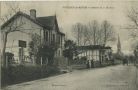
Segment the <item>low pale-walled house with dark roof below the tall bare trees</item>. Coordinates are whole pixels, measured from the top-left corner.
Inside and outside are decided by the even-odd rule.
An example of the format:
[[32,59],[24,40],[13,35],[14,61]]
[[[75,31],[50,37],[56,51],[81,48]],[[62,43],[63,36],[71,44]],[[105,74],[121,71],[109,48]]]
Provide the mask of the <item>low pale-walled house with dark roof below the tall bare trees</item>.
[[110,54],[112,53],[111,47],[105,47],[101,45],[89,45],[78,46],[78,54],[74,58],[86,58],[88,62],[93,61],[94,66],[99,66],[100,63],[104,63],[110,60]]

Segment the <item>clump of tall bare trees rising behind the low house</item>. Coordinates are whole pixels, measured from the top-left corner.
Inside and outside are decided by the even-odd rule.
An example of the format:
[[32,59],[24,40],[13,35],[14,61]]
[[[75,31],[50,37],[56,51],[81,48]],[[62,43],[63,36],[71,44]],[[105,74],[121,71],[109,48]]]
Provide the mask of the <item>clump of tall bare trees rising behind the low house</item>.
[[108,41],[116,40],[113,26],[108,21],[103,21],[101,25],[96,20],[85,25],[77,23],[73,32],[79,46],[106,45]]

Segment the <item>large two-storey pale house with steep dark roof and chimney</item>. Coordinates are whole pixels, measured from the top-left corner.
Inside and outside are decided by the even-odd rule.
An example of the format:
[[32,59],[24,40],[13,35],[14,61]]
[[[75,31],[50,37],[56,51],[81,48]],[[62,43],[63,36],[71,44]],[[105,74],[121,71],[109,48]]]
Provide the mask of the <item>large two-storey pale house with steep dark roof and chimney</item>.
[[30,15],[19,11],[1,26],[1,31],[15,28],[16,31],[8,34],[6,45],[6,52],[14,54],[15,63],[35,64],[34,60],[29,59],[28,51],[32,35],[40,36],[40,44],[56,43],[58,49],[55,51],[55,57],[62,57],[65,34],[59,30],[56,15],[37,17],[35,9],[30,10]]

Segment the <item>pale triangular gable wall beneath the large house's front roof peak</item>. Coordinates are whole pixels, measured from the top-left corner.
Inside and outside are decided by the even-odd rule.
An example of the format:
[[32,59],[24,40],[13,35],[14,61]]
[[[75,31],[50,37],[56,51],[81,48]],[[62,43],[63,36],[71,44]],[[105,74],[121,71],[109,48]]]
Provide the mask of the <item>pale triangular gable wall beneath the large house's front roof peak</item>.
[[13,29],[17,28],[17,30],[25,32],[32,32],[32,30],[40,30],[43,28],[23,15],[18,15],[14,17],[14,19],[11,19],[11,21],[7,21],[2,27],[2,30],[9,30],[10,27]]

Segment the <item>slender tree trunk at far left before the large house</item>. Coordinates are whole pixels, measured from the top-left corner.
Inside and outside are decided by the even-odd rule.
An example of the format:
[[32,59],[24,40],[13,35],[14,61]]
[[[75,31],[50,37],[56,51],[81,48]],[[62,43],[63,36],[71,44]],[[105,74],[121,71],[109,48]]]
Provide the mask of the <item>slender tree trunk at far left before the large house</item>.
[[5,50],[6,50],[6,43],[7,43],[7,35],[8,35],[8,33],[3,32],[2,35],[3,35],[3,38],[2,38],[3,48],[2,48],[2,56],[1,56],[1,60],[2,61],[1,61],[1,63],[2,63],[2,66],[4,67],[4,66],[6,66]]

